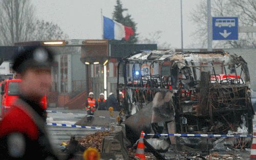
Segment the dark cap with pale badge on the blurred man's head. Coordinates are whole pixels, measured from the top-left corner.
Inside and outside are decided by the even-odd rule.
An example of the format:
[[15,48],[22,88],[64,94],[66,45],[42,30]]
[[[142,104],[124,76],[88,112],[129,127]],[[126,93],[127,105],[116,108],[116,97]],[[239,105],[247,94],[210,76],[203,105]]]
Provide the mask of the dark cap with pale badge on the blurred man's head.
[[14,57],[13,70],[23,73],[27,68],[50,68],[53,65],[53,53],[44,47],[29,47]]

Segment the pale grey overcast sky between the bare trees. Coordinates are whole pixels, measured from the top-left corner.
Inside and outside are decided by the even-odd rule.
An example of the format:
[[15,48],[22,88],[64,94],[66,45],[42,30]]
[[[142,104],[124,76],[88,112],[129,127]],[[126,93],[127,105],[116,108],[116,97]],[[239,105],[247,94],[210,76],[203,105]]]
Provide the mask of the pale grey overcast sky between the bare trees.
[[[137,33],[146,37],[148,33],[163,31],[161,42],[181,48],[180,0],[122,0],[123,8],[137,22]],[[44,0],[32,1],[39,19],[53,21],[69,35],[70,39],[101,39],[101,16],[112,18],[116,0]],[[182,0],[183,45],[193,43],[191,34],[195,26],[189,20],[191,11],[200,0]]]

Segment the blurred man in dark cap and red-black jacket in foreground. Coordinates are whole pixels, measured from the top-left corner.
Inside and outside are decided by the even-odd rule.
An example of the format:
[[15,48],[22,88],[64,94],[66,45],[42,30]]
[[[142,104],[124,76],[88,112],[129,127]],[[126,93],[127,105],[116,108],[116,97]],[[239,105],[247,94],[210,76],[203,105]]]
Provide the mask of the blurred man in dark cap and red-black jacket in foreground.
[[0,122],[1,159],[58,159],[48,138],[40,100],[51,87],[53,53],[30,48],[17,54],[13,70],[22,79],[19,98]]

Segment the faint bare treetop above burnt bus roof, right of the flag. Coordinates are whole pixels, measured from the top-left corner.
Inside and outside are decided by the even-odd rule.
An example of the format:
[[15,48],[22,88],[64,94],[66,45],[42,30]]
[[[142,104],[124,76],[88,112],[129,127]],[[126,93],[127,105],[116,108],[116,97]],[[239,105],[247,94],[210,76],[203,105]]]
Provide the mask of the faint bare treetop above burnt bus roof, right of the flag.
[[146,43],[146,44],[157,44],[158,49],[170,49],[171,44],[167,42],[160,42],[160,38],[162,36],[162,31],[156,31],[148,33],[146,37],[140,37],[139,43]]

